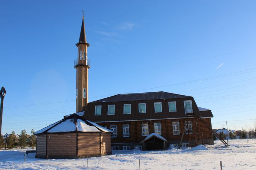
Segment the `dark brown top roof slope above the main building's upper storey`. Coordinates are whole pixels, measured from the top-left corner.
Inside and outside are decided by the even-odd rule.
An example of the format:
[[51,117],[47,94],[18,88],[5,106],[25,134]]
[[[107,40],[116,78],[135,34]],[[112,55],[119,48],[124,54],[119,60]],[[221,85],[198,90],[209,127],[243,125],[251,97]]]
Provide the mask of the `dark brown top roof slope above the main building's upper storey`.
[[172,98],[186,98],[191,96],[178,95],[164,91],[147,92],[147,93],[132,93],[132,94],[118,94],[107,98],[102,98],[90,103],[100,102],[124,102],[124,101],[138,101],[138,100],[158,100],[158,99],[172,99]]

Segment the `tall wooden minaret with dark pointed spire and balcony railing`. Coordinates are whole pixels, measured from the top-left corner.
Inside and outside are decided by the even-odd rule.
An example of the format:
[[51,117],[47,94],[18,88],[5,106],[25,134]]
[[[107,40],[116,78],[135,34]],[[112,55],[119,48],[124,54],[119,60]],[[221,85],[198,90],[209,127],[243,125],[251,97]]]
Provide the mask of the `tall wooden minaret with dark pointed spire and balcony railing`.
[[79,42],[76,43],[76,46],[78,47],[78,58],[74,61],[76,68],[76,112],[81,112],[88,103],[88,69],[90,68],[90,61],[87,58],[89,44],[86,42],[85,36],[84,13]]

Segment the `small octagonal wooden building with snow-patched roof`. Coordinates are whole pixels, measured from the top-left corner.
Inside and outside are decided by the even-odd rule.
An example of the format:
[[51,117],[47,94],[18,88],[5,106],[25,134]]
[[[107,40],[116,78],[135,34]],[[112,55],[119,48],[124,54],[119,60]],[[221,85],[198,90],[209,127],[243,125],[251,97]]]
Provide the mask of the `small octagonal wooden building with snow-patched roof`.
[[47,158],[47,155],[50,159],[108,155],[111,154],[111,133],[111,130],[80,117],[79,113],[71,114],[35,132],[36,158]]

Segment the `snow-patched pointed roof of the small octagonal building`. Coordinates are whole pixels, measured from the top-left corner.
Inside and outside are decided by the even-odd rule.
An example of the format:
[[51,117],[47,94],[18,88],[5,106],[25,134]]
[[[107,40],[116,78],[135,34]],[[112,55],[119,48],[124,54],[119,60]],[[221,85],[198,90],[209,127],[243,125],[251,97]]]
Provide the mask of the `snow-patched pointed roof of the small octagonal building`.
[[68,117],[64,117],[64,119],[47,126],[35,134],[41,133],[57,133],[57,132],[113,132],[109,129],[103,128],[96,123],[93,123],[89,120],[85,120],[77,114],[71,114]]

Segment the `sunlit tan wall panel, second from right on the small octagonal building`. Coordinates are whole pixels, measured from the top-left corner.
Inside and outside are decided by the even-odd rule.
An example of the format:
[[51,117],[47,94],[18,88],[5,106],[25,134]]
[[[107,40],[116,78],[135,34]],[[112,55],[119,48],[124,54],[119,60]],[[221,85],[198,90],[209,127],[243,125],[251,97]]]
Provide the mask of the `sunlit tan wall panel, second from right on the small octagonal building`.
[[100,154],[100,134],[79,134],[78,155]]

